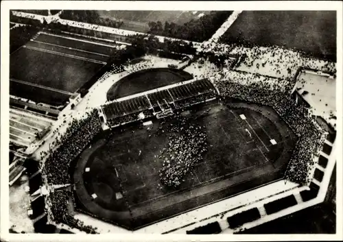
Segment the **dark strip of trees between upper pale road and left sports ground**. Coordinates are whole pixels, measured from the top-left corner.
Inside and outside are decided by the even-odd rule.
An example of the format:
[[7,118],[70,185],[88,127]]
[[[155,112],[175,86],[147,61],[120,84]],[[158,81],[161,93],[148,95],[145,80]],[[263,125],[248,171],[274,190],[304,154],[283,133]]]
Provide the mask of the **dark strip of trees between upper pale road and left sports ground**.
[[[15,29],[11,31],[11,36],[13,36],[11,38],[13,39],[13,44],[17,43],[15,45],[16,49],[21,45],[24,45],[34,34],[36,34],[36,32],[38,32],[40,28],[46,28],[49,29],[51,32],[55,32],[56,34],[64,31],[75,34],[82,34],[85,36],[95,36],[97,38],[108,38],[111,40],[126,41],[127,43],[131,43],[131,45],[128,45],[126,49],[115,50],[112,53],[109,53],[109,62],[113,64],[123,64],[127,60],[139,58],[141,56],[144,56],[145,54],[154,54],[163,58],[171,58],[175,60],[181,60],[185,57],[185,55],[198,56],[199,58],[206,58],[207,60],[209,60],[209,62],[215,64],[217,67],[223,66],[225,60],[227,59],[225,55],[216,55],[211,52],[197,53],[196,48],[193,47],[193,43],[187,43],[183,40],[165,39],[164,42],[161,43],[154,35],[137,34],[134,36],[118,36],[117,34],[99,32],[93,29],[72,27],[69,25],[62,25],[61,23],[52,22],[48,24],[46,21],[43,21],[43,23],[41,23],[40,21],[35,19],[21,18],[14,15],[11,16],[11,21],[27,24],[27,26],[23,27],[24,30],[18,30],[19,34],[13,32]],[[28,32],[29,29],[30,31],[32,31],[32,34],[22,34],[23,32]],[[13,49],[15,49],[15,47],[13,47]]]

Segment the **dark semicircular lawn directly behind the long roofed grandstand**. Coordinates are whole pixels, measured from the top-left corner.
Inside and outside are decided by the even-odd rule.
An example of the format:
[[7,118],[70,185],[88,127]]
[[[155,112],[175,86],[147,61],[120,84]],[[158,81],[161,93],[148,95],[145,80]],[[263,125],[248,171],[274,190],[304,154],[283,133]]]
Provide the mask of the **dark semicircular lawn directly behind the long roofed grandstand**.
[[113,84],[107,92],[107,99],[118,99],[192,78],[191,74],[179,69],[156,68],[137,71]]

